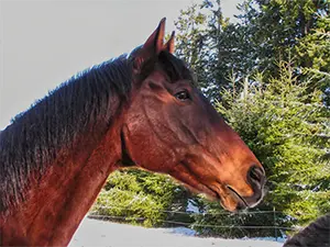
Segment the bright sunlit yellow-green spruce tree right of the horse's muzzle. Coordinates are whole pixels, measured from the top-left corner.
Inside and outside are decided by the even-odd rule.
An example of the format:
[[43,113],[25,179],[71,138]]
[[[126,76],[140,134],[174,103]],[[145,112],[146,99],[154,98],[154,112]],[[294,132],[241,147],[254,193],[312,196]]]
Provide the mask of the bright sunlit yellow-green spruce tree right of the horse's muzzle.
[[266,169],[265,204],[296,218],[287,225],[305,224],[330,210],[330,167],[320,159],[330,148],[330,111],[289,63],[278,66],[277,78],[245,81],[243,91],[224,93],[229,110],[218,106]]

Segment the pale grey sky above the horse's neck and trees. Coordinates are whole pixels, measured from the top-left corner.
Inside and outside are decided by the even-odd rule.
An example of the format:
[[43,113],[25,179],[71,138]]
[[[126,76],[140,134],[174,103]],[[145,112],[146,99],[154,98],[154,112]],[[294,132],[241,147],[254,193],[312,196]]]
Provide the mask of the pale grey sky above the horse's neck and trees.
[[[48,90],[142,44],[198,0],[1,0],[0,130]],[[242,0],[222,0],[226,16]],[[18,8],[18,5],[20,8]]]

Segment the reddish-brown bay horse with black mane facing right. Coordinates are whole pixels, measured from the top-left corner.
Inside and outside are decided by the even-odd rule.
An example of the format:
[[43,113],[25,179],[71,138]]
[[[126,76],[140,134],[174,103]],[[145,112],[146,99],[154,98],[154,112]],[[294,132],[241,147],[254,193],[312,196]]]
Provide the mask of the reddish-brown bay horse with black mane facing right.
[[170,175],[229,211],[262,200],[262,165],[164,33],[165,19],[132,53],[74,76],[1,132],[1,246],[66,246],[122,167]]

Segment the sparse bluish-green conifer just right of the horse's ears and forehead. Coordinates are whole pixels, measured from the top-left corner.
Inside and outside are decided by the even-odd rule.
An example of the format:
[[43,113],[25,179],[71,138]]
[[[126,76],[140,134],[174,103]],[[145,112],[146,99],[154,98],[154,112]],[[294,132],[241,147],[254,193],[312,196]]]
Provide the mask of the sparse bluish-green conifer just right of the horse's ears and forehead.
[[[199,87],[213,100],[219,97],[219,85],[227,86],[228,70],[237,63],[229,63],[240,55],[231,53],[244,41],[243,32],[235,32],[222,15],[219,0],[205,0],[180,12],[177,29],[176,54],[187,61],[197,74]],[[224,35],[228,37],[224,38]],[[237,42],[238,41],[238,42]],[[242,47],[244,49],[244,47]],[[237,59],[239,61],[240,59]],[[242,69],[238,69],[242,71]]]

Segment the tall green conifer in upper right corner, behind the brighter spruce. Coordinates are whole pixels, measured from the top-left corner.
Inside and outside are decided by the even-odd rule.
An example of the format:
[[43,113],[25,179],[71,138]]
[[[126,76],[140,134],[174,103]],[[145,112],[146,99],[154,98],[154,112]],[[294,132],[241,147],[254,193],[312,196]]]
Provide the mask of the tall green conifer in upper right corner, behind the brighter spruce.
[[[330,2],[314,0],[246,0],[241,4],[248,42],[255,47],[254,71],[265,79],[278,75],[276,60],[295,57],[296,76],[308,77],[310,91],[321,89],[330,102],[329,12]],[[246,64],[250,57],[243,58]],[[251,63],[250,63],[251,64]],[[250,74],[253,75],[254,72]],[[298,80],[299,81],[299,80]]]

